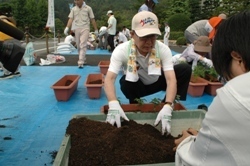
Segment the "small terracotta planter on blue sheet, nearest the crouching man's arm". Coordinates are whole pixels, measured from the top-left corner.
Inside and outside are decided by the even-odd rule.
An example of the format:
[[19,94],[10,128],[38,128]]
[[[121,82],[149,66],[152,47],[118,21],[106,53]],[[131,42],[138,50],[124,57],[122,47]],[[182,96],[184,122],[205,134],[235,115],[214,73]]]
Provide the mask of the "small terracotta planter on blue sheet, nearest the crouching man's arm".
[[102,86],[103,86],[103,74],[89,74],[85,87],[87,88],[88,96],[91,99],[98,99],[101,96]]

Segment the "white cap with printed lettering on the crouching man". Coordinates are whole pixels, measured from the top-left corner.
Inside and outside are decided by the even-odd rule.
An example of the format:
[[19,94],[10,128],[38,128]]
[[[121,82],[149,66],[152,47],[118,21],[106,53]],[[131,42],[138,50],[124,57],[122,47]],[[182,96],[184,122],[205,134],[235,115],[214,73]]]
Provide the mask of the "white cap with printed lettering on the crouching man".
[[141,11],[137,13],[132,19],[132,30],[139,37],[156,34],[161,35],[158,27],[158,18],[149,11]]

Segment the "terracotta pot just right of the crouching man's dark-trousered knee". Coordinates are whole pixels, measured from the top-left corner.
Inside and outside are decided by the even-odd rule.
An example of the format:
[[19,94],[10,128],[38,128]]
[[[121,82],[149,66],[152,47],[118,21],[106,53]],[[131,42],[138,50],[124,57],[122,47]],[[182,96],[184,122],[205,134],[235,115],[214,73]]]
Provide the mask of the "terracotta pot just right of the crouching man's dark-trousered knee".
[[207,85],[208,83],[201,77],[191,76],[188,86],[188,94],[193,97],[200,97],[203,95]]

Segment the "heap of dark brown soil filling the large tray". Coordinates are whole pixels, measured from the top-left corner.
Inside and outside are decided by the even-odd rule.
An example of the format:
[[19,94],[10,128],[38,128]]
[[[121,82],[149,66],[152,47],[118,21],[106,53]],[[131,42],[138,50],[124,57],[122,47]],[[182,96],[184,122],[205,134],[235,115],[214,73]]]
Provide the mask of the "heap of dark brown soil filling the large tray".
[[152,125],[133,120],[117,128],[86,118],[72,119],[66,133],[71,135],[70,166],[152,164],[175,159],[175,137],[162,136]]

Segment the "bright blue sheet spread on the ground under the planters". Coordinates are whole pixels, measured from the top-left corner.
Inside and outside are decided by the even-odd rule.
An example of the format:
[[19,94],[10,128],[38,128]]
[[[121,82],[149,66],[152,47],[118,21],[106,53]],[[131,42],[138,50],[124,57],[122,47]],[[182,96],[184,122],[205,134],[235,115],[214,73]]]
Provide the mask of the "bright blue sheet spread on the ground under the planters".
[[[52,165],[51,152],[58,151],[69,120],[75,114],[100,114],[107,104],[102,89],[99,99],[90,99],[84,86],[88,74],[100,73],[98,66],[22,66],[21,77],[0,81],[0,165]],[[2,72],[0,72],[2,74]],[[64,75],[80,75],[77,90],[66,102],[57,101],[51,86]],[[121,103],[128,103],[115,83]],[[145,97],[163,98],[165,92]],[[181,103],[188,109],[210,105],[213,96],[187,96]]]

